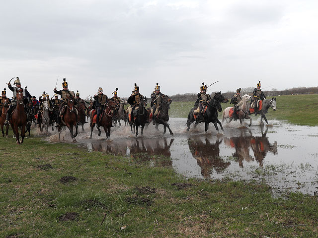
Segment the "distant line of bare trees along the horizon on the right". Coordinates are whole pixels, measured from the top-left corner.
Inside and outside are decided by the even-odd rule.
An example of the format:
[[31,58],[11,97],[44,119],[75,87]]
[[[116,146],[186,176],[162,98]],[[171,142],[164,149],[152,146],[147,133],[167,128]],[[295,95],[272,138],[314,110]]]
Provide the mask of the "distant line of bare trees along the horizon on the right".
[[[253,90],[255,87],[247,87],[241,89],[241,95],[249,94],[252,95]],[[263,90],[265,96],[271,97],[271,96],[278,96],[278,95],[295,95],[295,94],[318,94],[318,87],[298,87],[298,88],[291,88],[291,89],[285,89],[285,90],[277,90],[275,88],[272,88],[270,91]],[[208,93],[213,96],[214,91]],[[234,91],[227,91],[225,93],[222,92],[222,94],[227,97],[228,99],[232,98],[233,95],[236,92]],[[185,94],[175,94],[172,96],[169,96],[172,100],[172,102],[194,102],[197,100],[197,93],[185,93]]]

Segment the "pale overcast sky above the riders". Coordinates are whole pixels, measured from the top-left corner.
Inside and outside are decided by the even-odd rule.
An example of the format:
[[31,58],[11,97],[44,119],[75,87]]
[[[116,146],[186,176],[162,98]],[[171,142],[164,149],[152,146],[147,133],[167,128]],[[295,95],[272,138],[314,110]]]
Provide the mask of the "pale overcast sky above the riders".
[[[2,0],[1,89],[32,95],[156,83],[167,95],[318,86],[317,0]],[[11,93],[7,94],[11,96]]]

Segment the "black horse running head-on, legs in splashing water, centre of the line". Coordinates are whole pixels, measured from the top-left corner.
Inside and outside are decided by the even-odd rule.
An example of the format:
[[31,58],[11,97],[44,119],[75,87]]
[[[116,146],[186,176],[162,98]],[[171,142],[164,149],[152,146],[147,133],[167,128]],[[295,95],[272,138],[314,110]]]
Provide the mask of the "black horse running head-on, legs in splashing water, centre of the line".
[[[136,137],[138,136],[138,128],[141,126],[141,134],[144,133],[145,123],[148,120],[148,111],[146,109],[147,98],[142,98],[139,103],[139,108],[134,110],[131,121],[130,121],[130,130],[132,133],[135,132],[136,127]],[[134,127],[134,132],[133,132]]]

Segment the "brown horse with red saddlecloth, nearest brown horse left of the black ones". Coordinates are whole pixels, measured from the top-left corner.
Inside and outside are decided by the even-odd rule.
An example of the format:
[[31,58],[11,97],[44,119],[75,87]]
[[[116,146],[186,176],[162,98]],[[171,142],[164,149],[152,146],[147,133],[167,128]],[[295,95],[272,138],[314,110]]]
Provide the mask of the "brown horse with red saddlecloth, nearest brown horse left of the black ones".
[[[105,106],[105,109],[99,116],[99,125],[102,126],[106,133],[106,139],[110,136],[110,127],[112,122],[112,113],[111,110],[113,110],[117,106],[116,102],[109,100],[108,103]],[[93,129],[95,126],[95,122],[93,121],[95,114],[93,113],[93,110],[90,112],[90,136],[91,138]],[[99,127],[97,127],[98,130],[98,136],[101,134],[101,130]]]

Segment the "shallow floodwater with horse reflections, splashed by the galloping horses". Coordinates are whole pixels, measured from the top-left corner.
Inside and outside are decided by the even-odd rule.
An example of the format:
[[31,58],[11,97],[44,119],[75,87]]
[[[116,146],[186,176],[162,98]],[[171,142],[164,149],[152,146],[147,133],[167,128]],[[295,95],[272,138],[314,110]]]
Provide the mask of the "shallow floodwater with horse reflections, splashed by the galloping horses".
[[[89,151],[170,157],[165,166],[188,178],[255,179],[277,189],[311,195],[318,190],[318,127],[274,120],[269,121],[269,126],[260,126],[254,119],[251,127],[240,127],[239,122],[224,123],[223,133],[217,133],[212,124],[208,133],[204,133],[203,124],[187,133],[185,122],[186,119],[170,119],[174,136],[168,132],[162,135],[162,126],[157,132],[150,124],[138,138],[128,126],[122,126],[112,127],[107,140],[104,132],[98,137],[96,129],[89,139],[89,128],[85,127],[77,139]],[[62,137],[70,140],[68,133],[62,133]],[[56,136],[51,136],[54,139]]]

